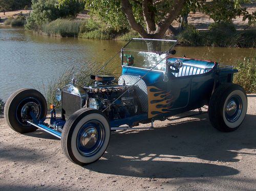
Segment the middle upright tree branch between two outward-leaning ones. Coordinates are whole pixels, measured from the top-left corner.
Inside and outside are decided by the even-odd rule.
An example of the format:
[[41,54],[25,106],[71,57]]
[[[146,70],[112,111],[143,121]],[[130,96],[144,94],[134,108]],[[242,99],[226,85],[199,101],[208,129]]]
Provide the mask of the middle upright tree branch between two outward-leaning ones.
[[150,10],[150,6],[153,7],[153,0],[142,1],[143,17],[146,22],[146,30],[148,34],[154,34],[156,30],[155,13]]

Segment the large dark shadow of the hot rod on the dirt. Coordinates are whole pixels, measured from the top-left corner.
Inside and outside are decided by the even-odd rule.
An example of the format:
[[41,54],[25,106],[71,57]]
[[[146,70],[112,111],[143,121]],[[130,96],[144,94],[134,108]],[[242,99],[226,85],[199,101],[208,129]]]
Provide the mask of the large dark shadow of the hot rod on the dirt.
[[214,177],[238,174],[225,165],[238,162],[242,149],[255,149],[256,116],[246,115],[241,127],[219,132],[207,114],[143,130],[111,136],[106,153],[84,168],[134,177]]

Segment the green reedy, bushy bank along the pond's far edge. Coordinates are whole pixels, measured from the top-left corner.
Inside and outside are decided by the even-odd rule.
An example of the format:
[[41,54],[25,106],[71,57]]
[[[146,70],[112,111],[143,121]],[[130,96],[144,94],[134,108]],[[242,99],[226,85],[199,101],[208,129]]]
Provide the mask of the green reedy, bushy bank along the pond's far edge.
[[[133,30],[115,30],[106,23],[88,20],[57,19],[41,27],[49,36],[80,37],[89,39],[117,39],[128,41],[140,35]],[[170,37],[166,36],[169,39]],[[214,23],[207,31],[199,31],[187,26],[176,37],[180,45],[221,46],[221,47],[256,47],[256,29],[237,31],[232,24]]]

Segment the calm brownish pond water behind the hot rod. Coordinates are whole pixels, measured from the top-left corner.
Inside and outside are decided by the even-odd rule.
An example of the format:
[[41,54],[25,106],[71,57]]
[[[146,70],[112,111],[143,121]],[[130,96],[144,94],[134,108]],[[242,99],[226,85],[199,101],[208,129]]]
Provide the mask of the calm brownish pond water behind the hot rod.
[[[24,29],[0,28],[0,98],[20,88],[41,90],[68,67],[103,64],[125,44],[117,40],[57,38]],[[207,59],[227,65],[255,56],[255,49],[176,46],[176,56]],[[119,65],[118,62],[114,63]],[[117,67],[116,66],[116,67]],[[117,67],[120,69],[120,67]]]

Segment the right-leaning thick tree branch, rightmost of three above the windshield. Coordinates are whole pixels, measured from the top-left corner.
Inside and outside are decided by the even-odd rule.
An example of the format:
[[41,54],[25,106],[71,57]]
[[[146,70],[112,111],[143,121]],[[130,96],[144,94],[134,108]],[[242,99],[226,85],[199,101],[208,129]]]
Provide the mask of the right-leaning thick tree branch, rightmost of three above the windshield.
[[180,13],[184,6],[185,0],[176,0],[174,1],[174,5],[169,9],[167,14],[164,16],[162,20],[158,23],[158,28],[155,31],[155,37],[162,38],[170,26],[170,24],[174,21],[176,16]]

